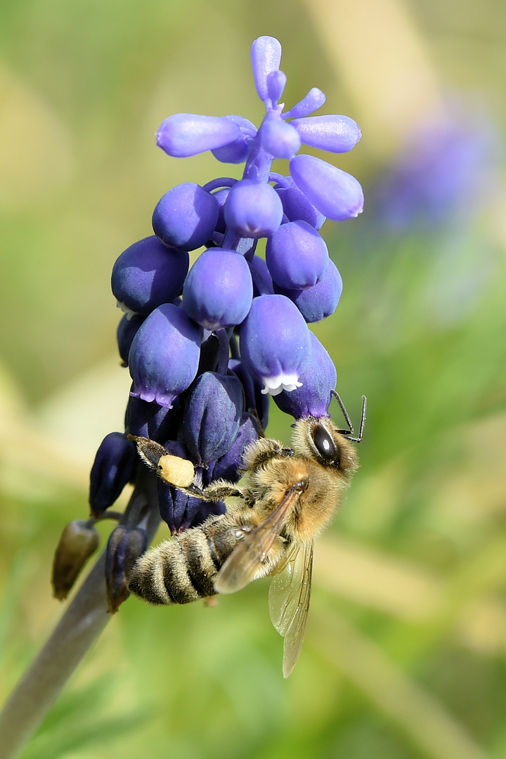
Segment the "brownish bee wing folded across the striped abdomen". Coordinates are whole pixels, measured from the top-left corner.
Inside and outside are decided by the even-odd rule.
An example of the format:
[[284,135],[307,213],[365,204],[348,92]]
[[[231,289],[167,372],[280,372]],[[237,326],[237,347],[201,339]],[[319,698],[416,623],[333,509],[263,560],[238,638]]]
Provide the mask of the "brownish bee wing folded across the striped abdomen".
[[235,593],[255,579],[299,493],[298,488],[291,488],[262,524],[248,532],[234,548],[215,579],[217,593]]

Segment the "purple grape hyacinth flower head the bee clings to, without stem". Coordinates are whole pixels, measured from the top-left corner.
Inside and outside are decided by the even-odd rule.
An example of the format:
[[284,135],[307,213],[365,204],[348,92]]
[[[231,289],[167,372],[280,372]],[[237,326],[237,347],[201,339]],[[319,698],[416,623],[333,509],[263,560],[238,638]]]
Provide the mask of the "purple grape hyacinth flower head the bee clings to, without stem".
[[[244,162],[244,173],[166,192],[152,216],[155,235],[115,263],[112,290],[127,313],[118,347],[133,386],[125,434],[108,436],[93,466],[93,518],[143,471],[127,434],[191,461],[196,485],[205,487],[240,477],[244,447],[266,428],[269,395],[295,418],[328,414],[335,367],[307,324],[335,310],[342,283],[319,229],[326,217],[357,216],[363,194],[351,175],[298,152],[304,145],[346,152],[360,130],[346,116],[312,116],[325,102],[317,88],[284,111],[277,39],[256,39],[251,60],[266,108],[259,128],[237,115],[184,113],[165,119],[156,135],[169,156],[210,150],[219,162]],[[279,158],[289,160],[290,175],[272,172]],[[267,238],[266,261],[255,253],[259,238]],[[202,245],[207,250],[188,272],[187,251]],[[109,539],[112,611],[127,597],[129,568],[146,548],[150,493],[137,527],[121,524]],[[225,504],[159,481],[155,508],[174,533]]]

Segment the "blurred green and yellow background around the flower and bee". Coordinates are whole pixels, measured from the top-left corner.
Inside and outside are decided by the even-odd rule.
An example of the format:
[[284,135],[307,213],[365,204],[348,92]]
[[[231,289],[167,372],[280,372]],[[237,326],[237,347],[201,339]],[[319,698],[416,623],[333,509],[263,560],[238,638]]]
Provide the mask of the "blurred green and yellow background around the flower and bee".
[[[239,176],[210,154],[168,158],[154,133],[174,112],[259,124],[261,34],[283,45],[288,107],[319,87],[322,112],[363,129],[332,158],[366,209],[323,228],[344,294],[315,332],[352,417],[362,394],[369,413],[316,547],[303,653],[284,681],[268,581],[214,608],[130,600],[23,757],[506,757],[501,0],[3,0],[0,697],[61,613],[52,551],[121,429],[112,264],[174,184]],[[450,140],[443,169],[416,175],[422,200],[409,181],[391,200],[426,124],[469,127],[472,170],[445,166]],[[393,225],[382,209],[399,197]],[[290,421],[273,411],[268,432],[288,440]]]

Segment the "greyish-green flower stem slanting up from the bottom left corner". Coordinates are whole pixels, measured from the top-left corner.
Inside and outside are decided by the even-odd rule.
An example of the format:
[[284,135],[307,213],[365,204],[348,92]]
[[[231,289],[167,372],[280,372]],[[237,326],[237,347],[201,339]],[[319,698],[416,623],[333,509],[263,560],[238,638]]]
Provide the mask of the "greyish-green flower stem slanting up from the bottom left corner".
[[[159,525],[156,477],[142,469],[121,524],[149,517],[148,540]],[[65,610],[60,622],[8,698],[0,713],[0,759],[13,759],[49,712],[86,651],[111,619],[105,596],[105,551]]]

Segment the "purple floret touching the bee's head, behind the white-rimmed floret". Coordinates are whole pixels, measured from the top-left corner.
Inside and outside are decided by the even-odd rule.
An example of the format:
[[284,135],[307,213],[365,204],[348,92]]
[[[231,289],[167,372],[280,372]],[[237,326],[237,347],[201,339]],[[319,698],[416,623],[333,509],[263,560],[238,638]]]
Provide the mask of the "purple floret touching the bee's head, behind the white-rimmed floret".
[[302,386],[293,392],[280,392],[274,398],[275,404],[296,419],[306,417],[328,417],[331,390],[335,389],[337,373],[319,339],[310,332],[311,356],[309,364],[300,375]]

